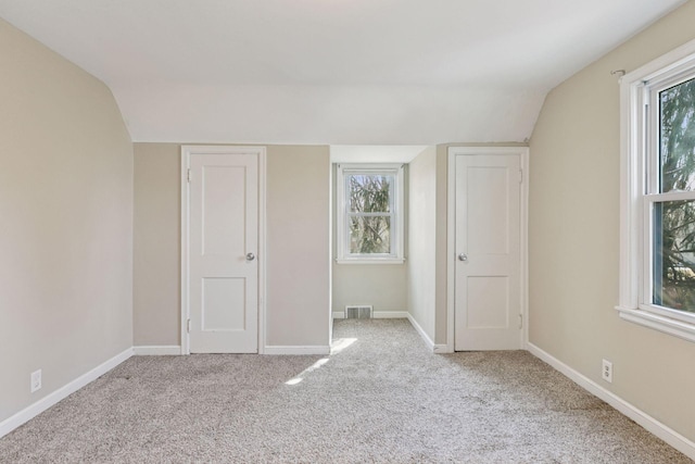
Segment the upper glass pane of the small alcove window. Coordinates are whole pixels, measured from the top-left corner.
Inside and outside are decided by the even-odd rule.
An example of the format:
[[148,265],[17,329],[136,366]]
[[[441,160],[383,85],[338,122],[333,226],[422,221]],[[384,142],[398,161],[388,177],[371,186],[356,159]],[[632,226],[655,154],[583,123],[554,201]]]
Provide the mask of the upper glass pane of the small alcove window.
[[352,174],[348,179],[351,213],[390,213],[394,176]]

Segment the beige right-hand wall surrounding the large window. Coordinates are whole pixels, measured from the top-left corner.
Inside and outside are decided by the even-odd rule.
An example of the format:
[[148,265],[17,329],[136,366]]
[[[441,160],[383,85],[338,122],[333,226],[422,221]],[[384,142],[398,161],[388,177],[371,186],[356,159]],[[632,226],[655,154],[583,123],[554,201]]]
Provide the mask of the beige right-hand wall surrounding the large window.
[[[618,303],[619,84],[695,38],[687,2],[548,96],[531,139],[530,341],[691,440],[695,343],[624,322]],[[602,359],[614,380],[601,379]]]

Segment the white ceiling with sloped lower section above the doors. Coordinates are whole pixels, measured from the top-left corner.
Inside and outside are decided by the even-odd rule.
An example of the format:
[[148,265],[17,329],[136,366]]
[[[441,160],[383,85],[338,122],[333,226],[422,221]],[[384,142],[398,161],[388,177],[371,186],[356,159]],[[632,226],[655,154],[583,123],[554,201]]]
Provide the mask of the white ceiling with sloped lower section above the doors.
[[[685,0],[0,0],[135,141],[522,141],[548,90]],[[607,76],[609,78],[609,76]]]

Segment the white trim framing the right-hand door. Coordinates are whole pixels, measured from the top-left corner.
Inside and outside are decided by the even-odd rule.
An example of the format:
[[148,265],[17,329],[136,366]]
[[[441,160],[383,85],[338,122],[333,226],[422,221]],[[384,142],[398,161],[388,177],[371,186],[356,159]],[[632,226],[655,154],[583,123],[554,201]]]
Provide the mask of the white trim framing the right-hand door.
[[475,154],[518,154],[521,166],[520,187],[520,234],[521,247],[519,272],[521,278],[520,305],[522,315],[521,339],[519,348],[529,340],[529,158],[528,147],[450,147],[447,151],[446,186],[446,351],[453,353],[454,316],[456,287],[456,156]]

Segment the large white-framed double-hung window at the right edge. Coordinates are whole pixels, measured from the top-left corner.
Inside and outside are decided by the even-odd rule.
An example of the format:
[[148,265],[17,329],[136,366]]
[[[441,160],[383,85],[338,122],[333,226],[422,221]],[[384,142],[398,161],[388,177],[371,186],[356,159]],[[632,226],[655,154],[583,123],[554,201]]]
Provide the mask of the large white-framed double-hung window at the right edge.
[[695,41],[621,81],[623,318],[695,341]]

